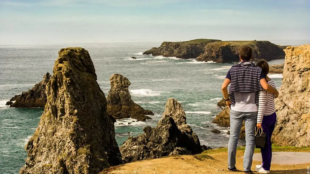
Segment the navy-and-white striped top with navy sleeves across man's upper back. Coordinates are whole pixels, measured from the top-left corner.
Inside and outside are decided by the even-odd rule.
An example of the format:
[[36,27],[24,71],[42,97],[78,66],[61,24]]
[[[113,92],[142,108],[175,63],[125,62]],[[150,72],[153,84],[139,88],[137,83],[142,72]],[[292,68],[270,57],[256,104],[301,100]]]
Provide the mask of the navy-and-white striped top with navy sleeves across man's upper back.
[[254,63],[243,61],[230,68],[227,73],[231,83],[229,86],[229,98],[231,104],[235,104],[234,92],[237,93],[253,93],[256,92],[255,103],[259,104],[258,92],[263,90],[260,80],[265,78],[262,68],[255,66]]

